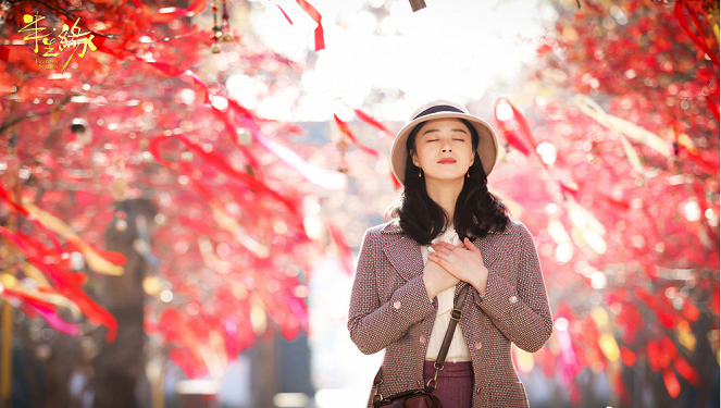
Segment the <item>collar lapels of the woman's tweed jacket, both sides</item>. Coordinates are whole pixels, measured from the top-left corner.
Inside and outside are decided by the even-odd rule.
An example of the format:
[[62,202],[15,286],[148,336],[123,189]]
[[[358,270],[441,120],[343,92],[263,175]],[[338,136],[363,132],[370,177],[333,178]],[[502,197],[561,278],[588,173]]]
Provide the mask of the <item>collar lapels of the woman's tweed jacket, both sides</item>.
[[[403,233],[398,219],[388,222],[383,228],[381,228],[381,233],[386,235],[383,239],[383,251],[400,276],[408,281],[423,273],[424,264],[421,245]],[[487,236],[473,242],[476,248],[481,250],[483,263],[487,269],[490,269],[490,265],[498,256],[498,252],[493,245],[498,239],[497,235],[508,235],[511,232],[507,227],[504,232],[490,233]],[[465,282],[461,282],[456,286],[456,295],[458,295],[460,288],[465,284]]]

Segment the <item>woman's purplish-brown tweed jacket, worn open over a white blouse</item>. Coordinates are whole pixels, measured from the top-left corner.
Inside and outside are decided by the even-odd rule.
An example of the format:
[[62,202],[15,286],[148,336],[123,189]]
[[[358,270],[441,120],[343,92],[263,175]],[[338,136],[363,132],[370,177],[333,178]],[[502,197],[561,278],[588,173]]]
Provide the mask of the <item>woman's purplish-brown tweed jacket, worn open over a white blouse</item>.
[[[472,406],[527,407],[511,359],[511,342],[533,353],[552,332],[533,236],[522,222],[512,220],[505,231],[473,244],[481,250],[488,280],[483,297],[469,287],[460,321],[473,363]],[[425,351],[438,309],[438,299],[428,299],[423,269],[420,244],[403,233],[398,219],[365,231],[348,330],[361,353],[385,348],[380,386],[384,396],[423,385]],[[463,285],[469,283],[456,285],[456,297]],[[373,407],[372,400],[373,390],[368,407]]]

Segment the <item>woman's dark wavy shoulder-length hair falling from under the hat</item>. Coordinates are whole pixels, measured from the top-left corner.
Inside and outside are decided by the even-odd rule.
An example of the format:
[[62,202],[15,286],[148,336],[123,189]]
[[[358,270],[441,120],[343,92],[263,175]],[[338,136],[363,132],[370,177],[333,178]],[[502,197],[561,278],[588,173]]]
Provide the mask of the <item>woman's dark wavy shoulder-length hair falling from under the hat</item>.
[[[490,231],[504,231],[510,222],[510,211],[500,198],[488,191],[488,178],[476,151],[478,133],[467,120],[460,119],[471,132],[474,159],[463,177],[463,188],[456,199],[452,224],[461,242],[485,237]],[[406,188],[385,211],[386,218],[398,218],[403,232],[420,245],[430,245],[449,224],[448,214],[428,196],[425,176],[419,177],[420,168],[413,164],[411,149],[425,122],[411,131],[406,140]]]

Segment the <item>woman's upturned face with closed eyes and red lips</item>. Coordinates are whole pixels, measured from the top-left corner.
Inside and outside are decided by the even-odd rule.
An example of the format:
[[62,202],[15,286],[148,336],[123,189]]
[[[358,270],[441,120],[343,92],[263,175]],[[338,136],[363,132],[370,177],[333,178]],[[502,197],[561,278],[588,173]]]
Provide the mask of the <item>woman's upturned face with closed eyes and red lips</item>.
[[415,136],[411,154],[413,164],[423,169],[428,180],[462,178],[473,164],[471,132],[458,119],[427,121]]

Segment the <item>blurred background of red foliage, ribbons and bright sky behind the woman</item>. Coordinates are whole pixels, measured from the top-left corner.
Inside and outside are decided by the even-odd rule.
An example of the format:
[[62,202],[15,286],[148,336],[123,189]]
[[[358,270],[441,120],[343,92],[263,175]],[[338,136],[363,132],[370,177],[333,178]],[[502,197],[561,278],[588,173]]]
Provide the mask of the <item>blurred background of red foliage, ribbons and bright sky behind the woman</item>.
[[719,3],[0,0],[2,407],[365,406],[410,112],[497,131],[532,407],[719,407]]

